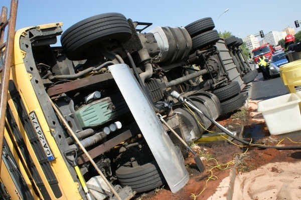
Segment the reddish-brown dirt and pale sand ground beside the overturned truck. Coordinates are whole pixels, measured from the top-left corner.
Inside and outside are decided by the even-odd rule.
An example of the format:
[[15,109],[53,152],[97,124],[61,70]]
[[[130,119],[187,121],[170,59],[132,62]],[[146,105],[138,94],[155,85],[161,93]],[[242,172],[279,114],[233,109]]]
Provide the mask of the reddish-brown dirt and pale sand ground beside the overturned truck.
[[[257,102],[250,101],[248,108],[217,121],[231,131],[242,133],[246,139],[257,137],[253,143],[277,145],[283,137],[270,135],[256,110]],[[221,132],[215,126],[210,129]],[[201,173],[190,154],[185,160],[190,180],[180,191],[172,193],[165,185],[134,199],[301,199],[301,150],[246,148],[236,140],[232,142],[222,140],[193,146],[206,169]],[[292,144],[284,139],[279,145]]]

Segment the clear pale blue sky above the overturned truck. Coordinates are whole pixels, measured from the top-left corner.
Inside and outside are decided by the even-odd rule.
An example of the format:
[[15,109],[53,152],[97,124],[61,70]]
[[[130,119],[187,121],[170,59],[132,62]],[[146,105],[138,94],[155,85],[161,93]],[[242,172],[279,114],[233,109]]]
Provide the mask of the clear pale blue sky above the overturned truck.
[[[1,0],[10,10],[10,0]],[[16,30],[42,24],[63,22],[63,30],[86,18],[103,13],[121,13],[127,19],[153,23],[155,27],[185,27],[211,17],[217,31],[228,31],[239,38],[270,31],[295,28],[299,20],[300,0],[270,1],[180,1],[180,0],[19,0]],[[224,11],[229,9],[226,13]],[[295,29],[295,32],[301,28]],[[260,40],[260,37],[258,38]]]

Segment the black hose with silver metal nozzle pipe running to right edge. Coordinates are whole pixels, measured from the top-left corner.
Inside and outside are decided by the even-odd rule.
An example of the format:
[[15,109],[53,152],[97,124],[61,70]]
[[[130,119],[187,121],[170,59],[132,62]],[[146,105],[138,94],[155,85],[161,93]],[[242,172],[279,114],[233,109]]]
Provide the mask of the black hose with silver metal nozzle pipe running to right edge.
[[[194,110],[196,110],[197,112],[201,113],[202,115],[204,115],[206,118],[208,118],[214,125],[216,125],[219,129],[221,129],[224,133],[226,133],[227,135],[231,136],[232,138],[234,138],[235,140],[248,145],[248,146],[253,146],[253,147],[258,147],[258,148],[274,148],[274,149],[278,149],[278,150],[288,150],[288,149],[301,149],[301,146],[269,146],[269,145],[257,145],[254,143],[250,143],[247,142],[243,139],[240,138],[236,138],[233,137],[233,134],[226,129],[225,127],[223,127],[222,125],[220,125],[218,122],[216,122],[215,120],[211,119],[211,117],[207,114],[207,113],[203,113],[201,110],[198,109],[198,107],[196,106],[196,104],[189,98],[189,97],[182,97],[180,96],[180,94],[176,91],[173,91],[171,94],[173,97],[177,98],[180,102],[182,103],[186,103],[188,104],[190,107],[192,107]],[[188,102],[188,101],[189,102]]]

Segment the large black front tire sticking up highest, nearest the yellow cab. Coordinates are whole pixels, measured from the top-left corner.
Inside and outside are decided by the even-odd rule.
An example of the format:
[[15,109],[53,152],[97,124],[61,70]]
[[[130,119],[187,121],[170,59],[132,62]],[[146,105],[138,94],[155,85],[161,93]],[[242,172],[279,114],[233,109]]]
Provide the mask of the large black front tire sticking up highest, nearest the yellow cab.
[[131,37],[126,18],[119,13],[106,13],[82,20],[68,28],[61,37],[61,44],[70,60],[85,60],[86,50],[108,39],[125,42]]

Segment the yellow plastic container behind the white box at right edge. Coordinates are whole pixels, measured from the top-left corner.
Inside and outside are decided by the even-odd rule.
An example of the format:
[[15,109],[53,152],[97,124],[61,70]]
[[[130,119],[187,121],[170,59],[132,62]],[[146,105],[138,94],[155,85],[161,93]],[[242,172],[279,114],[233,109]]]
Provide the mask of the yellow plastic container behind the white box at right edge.
[[[279,68],[280,77],[290,93],[301,91],[301,60],[282,65]],[[301,110],[301,103],[299,103]]]

